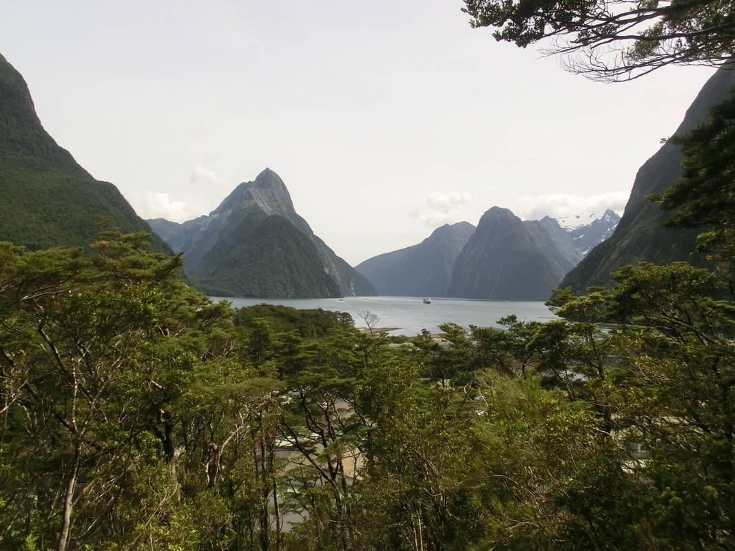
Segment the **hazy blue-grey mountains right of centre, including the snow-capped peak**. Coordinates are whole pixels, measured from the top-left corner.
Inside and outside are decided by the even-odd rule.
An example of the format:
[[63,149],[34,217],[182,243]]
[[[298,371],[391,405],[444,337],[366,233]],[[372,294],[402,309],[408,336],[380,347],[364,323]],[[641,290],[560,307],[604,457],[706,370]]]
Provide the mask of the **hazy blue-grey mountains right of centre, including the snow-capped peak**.
[[590,248],[609,237],[612,210],[522,221],[497,206],[477,228],[442,226],[418,245],[356,266],[381,295],[546,300]]

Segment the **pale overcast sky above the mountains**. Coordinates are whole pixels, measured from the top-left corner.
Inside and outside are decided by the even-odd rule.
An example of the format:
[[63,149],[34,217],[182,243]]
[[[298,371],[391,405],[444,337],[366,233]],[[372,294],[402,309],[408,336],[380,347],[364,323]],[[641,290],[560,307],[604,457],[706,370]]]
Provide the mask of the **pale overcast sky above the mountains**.
[[603,84],[473,29],[462,0],[0,0],[44,128],[143,218],[265,168],[349,264],[492,206],[612,208],[712,68]]

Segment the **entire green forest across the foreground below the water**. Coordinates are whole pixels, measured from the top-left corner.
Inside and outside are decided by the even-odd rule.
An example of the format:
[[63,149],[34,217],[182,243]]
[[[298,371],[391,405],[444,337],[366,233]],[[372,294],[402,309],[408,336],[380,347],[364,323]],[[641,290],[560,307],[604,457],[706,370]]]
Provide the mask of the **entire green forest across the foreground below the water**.
[[211,303],[145,237],[0,245],[3,549],[735,548],[715,275],[640,264],[395,347]]

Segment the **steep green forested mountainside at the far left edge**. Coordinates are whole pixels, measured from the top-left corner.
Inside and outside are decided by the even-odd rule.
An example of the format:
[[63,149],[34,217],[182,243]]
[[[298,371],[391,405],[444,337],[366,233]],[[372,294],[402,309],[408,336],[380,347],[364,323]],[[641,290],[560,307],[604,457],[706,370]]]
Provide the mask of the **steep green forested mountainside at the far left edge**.
[[[28,86],[0,55],[0,240],[37,250],[86,248],[98,223],[151,231],[118,188],[94,179],[43,129]],[[151,235],[151,249],[171,253]]]

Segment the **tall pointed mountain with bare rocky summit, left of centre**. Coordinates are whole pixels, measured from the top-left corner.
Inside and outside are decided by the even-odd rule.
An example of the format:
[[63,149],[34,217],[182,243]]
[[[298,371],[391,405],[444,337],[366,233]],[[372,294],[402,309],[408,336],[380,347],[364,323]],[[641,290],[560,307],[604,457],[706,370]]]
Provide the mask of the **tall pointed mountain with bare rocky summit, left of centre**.
[[148,222],[175,251],[184,251],[184,271],[210,295],[376,295],[370,281],[296,214],[284,182],[268,168],[237,186],[208,216],[182,224]]

